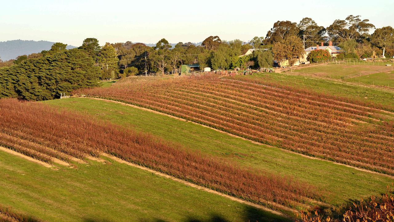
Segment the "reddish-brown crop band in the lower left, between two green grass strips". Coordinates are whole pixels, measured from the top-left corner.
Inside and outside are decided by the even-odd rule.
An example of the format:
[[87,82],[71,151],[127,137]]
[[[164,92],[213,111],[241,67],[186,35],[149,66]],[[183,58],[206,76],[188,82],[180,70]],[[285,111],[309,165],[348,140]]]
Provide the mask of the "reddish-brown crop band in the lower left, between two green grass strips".
[[[320,199],[315,188],[298,184],[292,179],[266,172],[254,173],[234,164],[188,152],[184,147],[149,134],[136,133],[108,122],[95,122],[71,112],[58,112],[41,103],[0,100],[0,133],[7,138],[7,147],[19,152],[30,149],[56,158],[59,158],[59,152],[77,158],[87,155],[99,157],[106,152],[128,162],[273,208],[272,202],[297,206],[297,203],[310,203],[309,198]],[[1,144],[4,145],[2,141]],[[35,153],[31,152],[30,155],[34,156]],[[36,158],[41,157],[37,155]]]

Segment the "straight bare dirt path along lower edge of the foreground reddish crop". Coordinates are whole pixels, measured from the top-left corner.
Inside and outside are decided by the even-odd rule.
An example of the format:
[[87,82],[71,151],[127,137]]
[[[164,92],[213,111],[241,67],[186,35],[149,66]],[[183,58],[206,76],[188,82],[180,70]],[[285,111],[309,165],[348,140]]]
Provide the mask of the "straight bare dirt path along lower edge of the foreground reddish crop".
[[[212,193],[212,194],[216,194],[216,195],[219,195],[219,196],[222,196],[222,197],[231,199],[231,200],[233,200],[233,201],[237,201],[237,202],[239,202],[239,203],[243,203],[243,204],[246,204],[246,205],[249,205],[249,206],[258,208],[258,209],[262,209],[262,210],[264,210],[264,211],[269,211],[270,213],[273,213],[273,214],[277,214],[277,215],[280,215],[280,216],[288,217],[287,215],[285,215],[285,214],[283,214],[283,213],[281,213],[281,212],[274,211],[274,210],[269,209],[269,208],[267,208],[267,207],[263,207],[263,206],[261,206],[261,205],[255,204],[255,203],[247,202],[247,201],[244,201],[244,200],[242,200],[242,199],[235,198],[235,197],[233,197],[233,196],[229,196],[229,195],[226,195],[226,194],[222,194],[221,192],[217,192],[217,191],[215,191],[215,190],[211,190],[211,189],[208,189],[208,188],[206,188],[206,187],[199,186],[199,185],[193,184],[193,183],[191,183],[191,182],[187,182],[187,181],[178,179],[178,178],[176,178],[176,177],[172,177],[172,176],[167,175],[167,174],[164,174],[164,173],[160,173],[160,172],[155,171],[155,170],[153,170],[153,169],[149,169],[149,168],[147,168],[147,167],[143,167],[143,166],[139,166],[139,165],[137,165],[137,164],[133,164],[133,163],[127,162],[127,161],[125,161],[125,160],[122,160],[121,158],[117,158],[116,156],[112,156],[112,155],[110,155],[110,154],[102,153],[102,156],[105,156],[105,157],[107,157],[107,158],[110,158],[111,160],[114,160],[114,161],[119,162],[119,163],[127,164],[128,166],[133,166],[133,167],[137,167],[137,168],[139,168],[139,169],[143,169],[143,170],[145,170],[145,171],[149,171],[149,172],[154,173],[154,174],[156,174],[156,175],[159,175],[159,176],[161,176],[161,177],[165,177],[165,178],[171,179],[171,180],[173,180],[173,181],[180,182],[180,183],[182,183],[182,184],[185,184],[185,185],[187,185],[187,186],[191,186],[191,187],[193,187],[193,188],[197,188],[197,189],[199,189],[199,190],[204,190],[204,191],[206,191],[206,192],[210,192],[210,193]],[[281,209],[285,209],[285,210],[287,210],[287,211],[295,211],[294,209],[290,209],[290,208],[288,208],[288,207],[284,207],[284,206],[279,205],[279,204],[277,204],[277,203],[270,203],[270,204],[272,204],[272,205],[274,205],[274,206],[276,206],[276,207],[279,207],[279,208],[281,208]]]

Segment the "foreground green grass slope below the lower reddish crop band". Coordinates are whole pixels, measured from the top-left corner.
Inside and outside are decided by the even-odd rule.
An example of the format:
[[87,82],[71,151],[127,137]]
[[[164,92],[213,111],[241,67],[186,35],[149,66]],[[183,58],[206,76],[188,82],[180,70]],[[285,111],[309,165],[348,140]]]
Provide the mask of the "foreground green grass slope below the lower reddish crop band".
[[286,221],[142,169],[110,162],[54,171],[0,151],[0,203],[56,222]]

